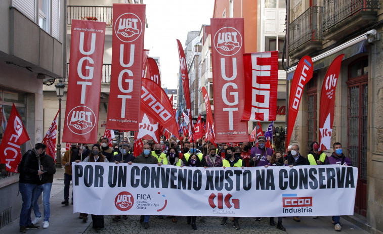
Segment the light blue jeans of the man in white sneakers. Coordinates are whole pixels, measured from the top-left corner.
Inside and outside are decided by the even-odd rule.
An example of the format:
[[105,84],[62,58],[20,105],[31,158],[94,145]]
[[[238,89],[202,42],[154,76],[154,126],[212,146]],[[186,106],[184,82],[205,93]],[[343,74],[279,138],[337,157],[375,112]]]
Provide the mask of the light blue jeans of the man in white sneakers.
[[42,204],[44,205],[44,221],[49,222],[49,217],[51,217],[51,207],[49,204],[49,198],[51,196],[52,183],[43,183],[37,185],[36,190],[33,194],[32,208],[34,211],[35,217],[41,217],[40,210],[38,209],[37,200],[42,192]]

